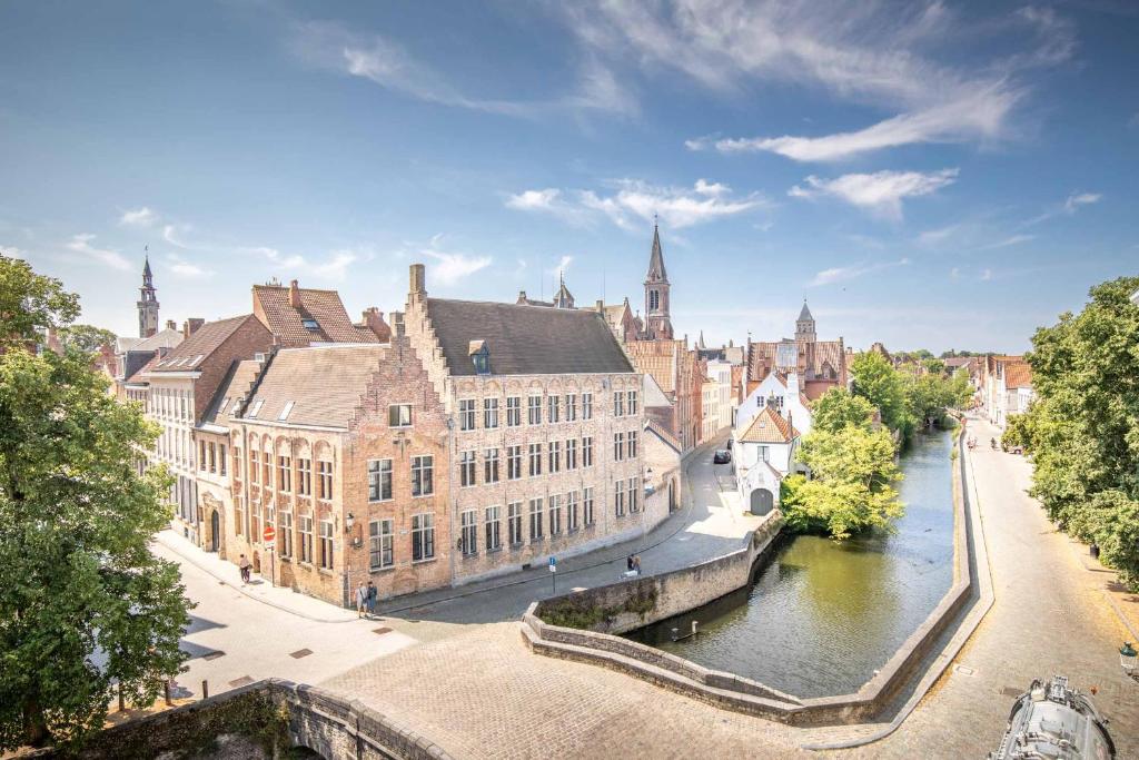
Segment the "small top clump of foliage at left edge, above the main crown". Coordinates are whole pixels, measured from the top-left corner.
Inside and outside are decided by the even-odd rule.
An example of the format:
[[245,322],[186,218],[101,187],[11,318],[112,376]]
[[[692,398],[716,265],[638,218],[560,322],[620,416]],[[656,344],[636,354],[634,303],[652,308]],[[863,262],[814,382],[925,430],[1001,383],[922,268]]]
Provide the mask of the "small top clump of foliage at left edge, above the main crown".
[[0,352],[38,341],[40,332],[79,314],[79,297],[63,284],[36,275],[23,259],[0,254]]

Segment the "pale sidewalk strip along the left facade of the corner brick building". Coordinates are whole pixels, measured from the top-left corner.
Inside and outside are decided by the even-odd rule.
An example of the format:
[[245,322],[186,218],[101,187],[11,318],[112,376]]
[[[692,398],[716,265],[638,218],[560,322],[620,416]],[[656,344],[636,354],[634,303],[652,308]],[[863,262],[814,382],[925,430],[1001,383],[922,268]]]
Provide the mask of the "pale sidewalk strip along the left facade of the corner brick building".
[[345,623],[357,620],[355,613],[349,610],[342,610],[327,602],[297,594],[290,588],[271,586],[268,578],[254,575],[253,582],[241,583],[237,565],[221,559],[216,554],[203,551],[173,530],[167,529],[158,532],[154,537],[154,542],[161,547],[155,554],[164,559],[188,562],[251,599],[268,604],[282,612],[318,623]]

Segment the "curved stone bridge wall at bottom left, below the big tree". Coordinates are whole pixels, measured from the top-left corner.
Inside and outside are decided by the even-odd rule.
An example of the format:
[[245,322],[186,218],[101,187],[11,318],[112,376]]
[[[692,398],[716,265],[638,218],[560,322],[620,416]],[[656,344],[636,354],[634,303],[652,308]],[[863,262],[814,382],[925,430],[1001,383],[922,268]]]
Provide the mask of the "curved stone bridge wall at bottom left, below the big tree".
[[[260,758],[302,746],[326,760],[450,758],[426,737],[358,701],[276,678],[108,728],[77,757],[208,757],[216,741],[227,743],[233,736],[248,739],[239,744],[251,752],[260,751]],[[55,760],[65,755],[43,750],[33,757]]]

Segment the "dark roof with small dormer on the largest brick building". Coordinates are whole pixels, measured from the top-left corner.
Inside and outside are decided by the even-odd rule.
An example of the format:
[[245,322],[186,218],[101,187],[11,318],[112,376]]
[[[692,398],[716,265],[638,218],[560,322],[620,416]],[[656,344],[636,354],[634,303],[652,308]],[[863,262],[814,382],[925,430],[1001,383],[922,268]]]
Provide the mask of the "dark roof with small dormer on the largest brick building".
[[452,375],[475,374],[472,341],[485,342],[494,375],[633,371],[593,310],[427,299],[427,316]]

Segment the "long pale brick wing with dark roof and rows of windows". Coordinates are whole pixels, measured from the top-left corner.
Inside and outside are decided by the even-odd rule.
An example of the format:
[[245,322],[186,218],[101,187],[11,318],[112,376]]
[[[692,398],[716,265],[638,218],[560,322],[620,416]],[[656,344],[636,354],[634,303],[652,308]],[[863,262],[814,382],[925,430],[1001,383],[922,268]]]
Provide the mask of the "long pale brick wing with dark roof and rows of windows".
[[415,264],[405,325],[451,420],[456,582],[659,520],[645,510],[641,378],[604,314],[432,299]]

